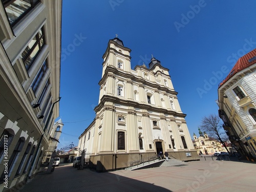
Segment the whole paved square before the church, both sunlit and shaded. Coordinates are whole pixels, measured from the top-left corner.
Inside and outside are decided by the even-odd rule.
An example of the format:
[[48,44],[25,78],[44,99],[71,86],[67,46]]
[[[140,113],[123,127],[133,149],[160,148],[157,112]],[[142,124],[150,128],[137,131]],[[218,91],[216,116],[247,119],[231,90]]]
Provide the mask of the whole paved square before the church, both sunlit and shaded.
[[185,166],[97,173],[60,164],[18,191],[255,191],[255,168],[255,163],[201,160]]

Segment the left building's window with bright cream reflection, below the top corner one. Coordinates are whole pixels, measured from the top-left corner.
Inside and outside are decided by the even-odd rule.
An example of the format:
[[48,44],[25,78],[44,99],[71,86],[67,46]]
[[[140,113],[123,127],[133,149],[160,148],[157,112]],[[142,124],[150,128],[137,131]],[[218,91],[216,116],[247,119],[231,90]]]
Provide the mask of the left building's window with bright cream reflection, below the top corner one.
[[45,45],[44,27],[34,36],[29,42],[29,45],[22,53],[22,58],[25,63],[27,71],[31,68],[33,61],[35,60],[38,53],[42,50]]

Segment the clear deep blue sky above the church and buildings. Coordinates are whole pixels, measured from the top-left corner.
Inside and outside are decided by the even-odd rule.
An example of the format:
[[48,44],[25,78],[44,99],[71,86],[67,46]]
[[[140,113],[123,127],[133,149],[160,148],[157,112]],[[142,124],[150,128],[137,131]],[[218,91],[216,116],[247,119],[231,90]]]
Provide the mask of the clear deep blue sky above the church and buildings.
[[192,136],[203,116],[218,114],[218,84],[236,60],[256,48],[253,0],[71,1],[62,4],[58,148],[73,142],[95,118],[102,55],[115,34],[130,48],[131,66],[151,54],[169,69]]

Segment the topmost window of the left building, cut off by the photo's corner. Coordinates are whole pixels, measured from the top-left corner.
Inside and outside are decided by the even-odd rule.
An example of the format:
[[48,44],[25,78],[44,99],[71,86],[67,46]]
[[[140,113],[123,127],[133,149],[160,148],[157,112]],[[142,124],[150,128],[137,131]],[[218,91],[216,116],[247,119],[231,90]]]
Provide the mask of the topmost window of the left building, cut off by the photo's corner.
[[9,22],[13,27],[22,17],[38,4],[39,0],[2,0]]

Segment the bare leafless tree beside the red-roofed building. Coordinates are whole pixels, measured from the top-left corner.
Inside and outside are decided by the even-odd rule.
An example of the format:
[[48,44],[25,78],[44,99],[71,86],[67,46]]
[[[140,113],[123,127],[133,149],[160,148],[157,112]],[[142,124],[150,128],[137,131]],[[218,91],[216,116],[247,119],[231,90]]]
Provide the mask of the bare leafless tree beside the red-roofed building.
[[227,140],[227,135],[222,127],[221,119],[217,115],[210,114],[208,117],[204,116],[200,128],[212,138],[219,140],[229,153],[224,142]]

